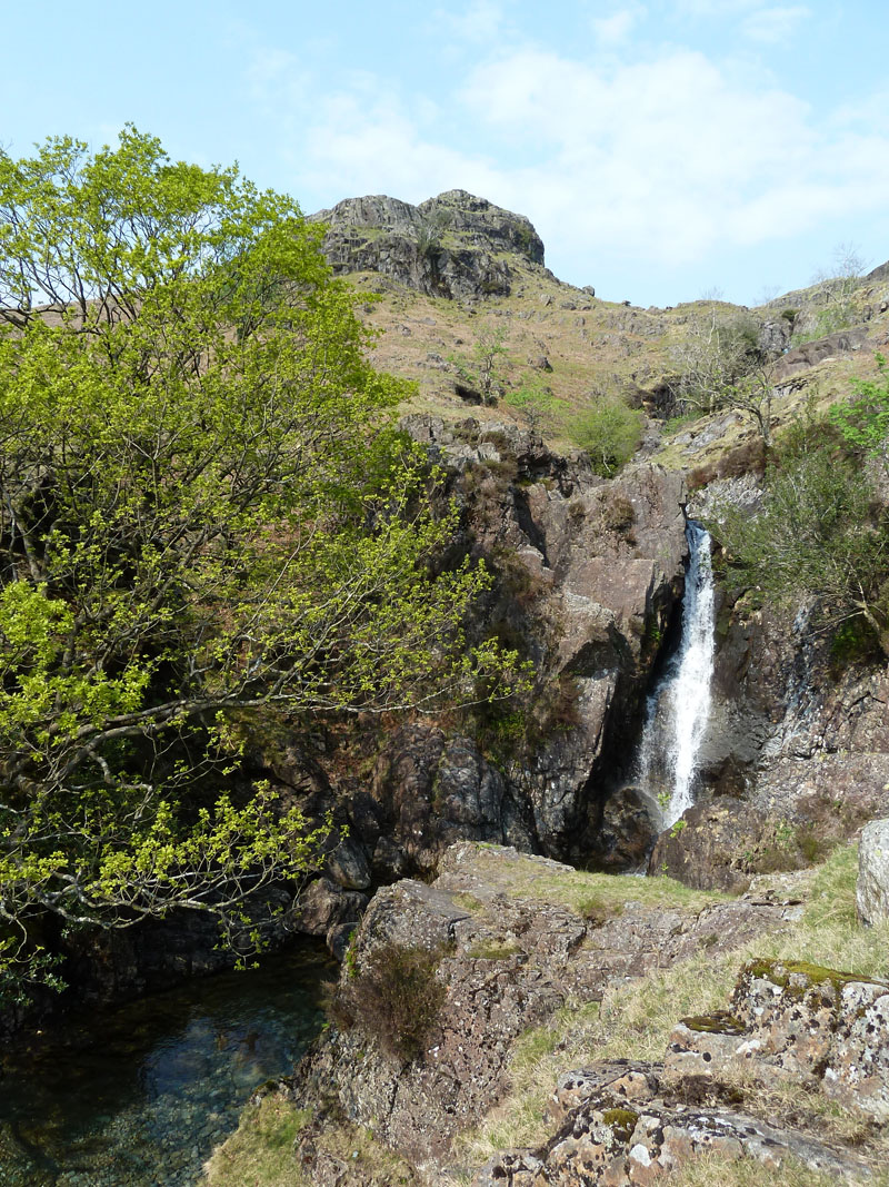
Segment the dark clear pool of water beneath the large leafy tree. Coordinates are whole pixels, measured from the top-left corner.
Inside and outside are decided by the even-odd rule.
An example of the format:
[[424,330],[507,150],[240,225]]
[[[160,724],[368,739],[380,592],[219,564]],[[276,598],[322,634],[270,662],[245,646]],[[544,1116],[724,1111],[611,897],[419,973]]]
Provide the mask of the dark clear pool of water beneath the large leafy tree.
[[[4,1187],[185,1187],[324,1022],[326,952],[82,1011],[0,1058]],[[64,1041],[63,1041],[64,1039]]]

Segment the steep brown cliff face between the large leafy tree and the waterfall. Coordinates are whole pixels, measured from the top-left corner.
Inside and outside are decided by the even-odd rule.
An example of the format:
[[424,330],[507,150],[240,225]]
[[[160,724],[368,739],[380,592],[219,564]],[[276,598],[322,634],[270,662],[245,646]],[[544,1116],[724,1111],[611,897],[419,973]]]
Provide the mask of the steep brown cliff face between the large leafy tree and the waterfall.
[[[469,630],[518,648],[533,687],[488,721],[421,718],[382,734],[365,777],[344,777],[335,755],[320,760],[307,804],[333,808],[348,837],[303,895],[300,920],[339,952],[360,915],[356,891],[433,877],[455,842],[627,868],[645,861],[658,827],[639,805],[607,830],[602,821],[682,592],[682,477],[639,464],[606,482],[582,456],[555,455],[506,424],[417,415],[404,427],[461,506],[453,559],[480,559],[493,576]],[[261,761],[284,794],[305,782],[302,751],[268,745]]]

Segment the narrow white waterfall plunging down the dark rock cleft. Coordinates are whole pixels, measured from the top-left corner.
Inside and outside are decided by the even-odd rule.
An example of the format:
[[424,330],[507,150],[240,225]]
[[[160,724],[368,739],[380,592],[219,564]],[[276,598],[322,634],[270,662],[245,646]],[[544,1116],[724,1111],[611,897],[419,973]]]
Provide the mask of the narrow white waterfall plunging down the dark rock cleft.
[[714,572],[710,537],[690,520],[682,639],[646,703],[634,782],[657,799],[669,829],[693,800],[695,772],[710,716]]

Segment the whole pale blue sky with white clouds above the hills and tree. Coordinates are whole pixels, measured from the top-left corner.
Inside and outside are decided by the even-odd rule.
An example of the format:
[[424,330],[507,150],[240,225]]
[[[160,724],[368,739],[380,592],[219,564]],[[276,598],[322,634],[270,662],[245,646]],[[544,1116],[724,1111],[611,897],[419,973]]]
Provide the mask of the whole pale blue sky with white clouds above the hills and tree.
[[462,188],[640,305],[889,259],[885,0],[6,0],[0,27],[13,155],[130,121],[306,211]]

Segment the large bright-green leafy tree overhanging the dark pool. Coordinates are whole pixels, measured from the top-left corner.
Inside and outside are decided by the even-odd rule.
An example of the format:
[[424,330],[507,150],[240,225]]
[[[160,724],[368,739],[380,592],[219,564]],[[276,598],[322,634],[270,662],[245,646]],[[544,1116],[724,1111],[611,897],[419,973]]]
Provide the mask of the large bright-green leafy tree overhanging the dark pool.
[[315,861],[324,826],[230,777],[257,713],[433,710],[501,694],[509,661],[466,641],[487,577],[433,563],[455,510],[390,427],[404,387],[370,367],[290,199],[128,127],[95,154],[0,153],[0,228],[15,984],[50,916],[187,907],[231,932]]

